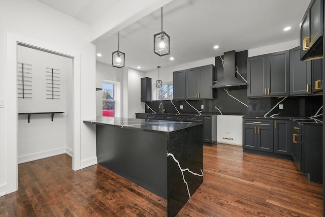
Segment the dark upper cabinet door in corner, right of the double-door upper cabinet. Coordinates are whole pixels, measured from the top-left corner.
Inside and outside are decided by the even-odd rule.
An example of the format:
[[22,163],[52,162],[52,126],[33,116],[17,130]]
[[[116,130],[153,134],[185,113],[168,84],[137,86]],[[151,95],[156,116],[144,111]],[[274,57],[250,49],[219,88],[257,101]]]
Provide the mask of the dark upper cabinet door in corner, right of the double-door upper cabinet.
[[290,95],[311,93],[310,60],[300,60],[300,47],[290,50]]

